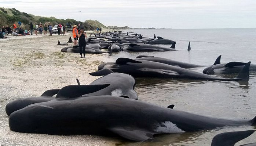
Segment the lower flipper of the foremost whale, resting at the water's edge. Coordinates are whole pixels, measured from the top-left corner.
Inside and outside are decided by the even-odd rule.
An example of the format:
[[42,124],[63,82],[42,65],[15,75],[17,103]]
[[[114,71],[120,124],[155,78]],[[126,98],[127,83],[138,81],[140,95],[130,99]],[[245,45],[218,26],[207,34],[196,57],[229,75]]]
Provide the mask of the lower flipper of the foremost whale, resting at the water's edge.
[[132,141],[146,141],[148,139],[152,139],[154,134],[157,134],[146,130],[140,130],[138,128],[131,129],[130,127],[114,127],[109,128],[109,130]]

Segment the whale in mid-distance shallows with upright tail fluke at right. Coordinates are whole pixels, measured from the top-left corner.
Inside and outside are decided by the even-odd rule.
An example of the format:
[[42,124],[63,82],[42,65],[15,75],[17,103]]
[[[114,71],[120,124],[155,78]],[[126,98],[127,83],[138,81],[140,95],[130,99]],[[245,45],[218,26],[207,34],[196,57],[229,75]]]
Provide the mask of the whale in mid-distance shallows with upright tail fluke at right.
[[236,78],[221,78],[208,74],[198,73],[193,70],[180,68],[159,62],[147,60],[134,60],[129,58],[118,58],[116,62],[101,64],[98,70],[107,68],[113,72],[127,73],[133,77],[168,77],[168,78],[190,78],[200,80],[249,80],[248,62]]

